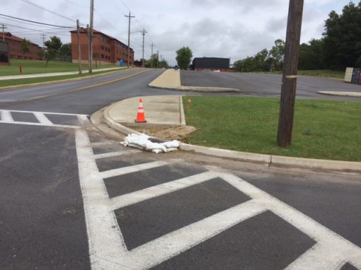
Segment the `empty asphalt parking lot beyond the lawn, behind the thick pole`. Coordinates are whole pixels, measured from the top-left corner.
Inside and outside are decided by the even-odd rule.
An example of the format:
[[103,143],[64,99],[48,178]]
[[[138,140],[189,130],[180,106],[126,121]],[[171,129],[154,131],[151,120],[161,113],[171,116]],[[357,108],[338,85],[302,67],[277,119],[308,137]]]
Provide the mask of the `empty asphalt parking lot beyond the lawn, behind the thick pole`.
[[[212,71],[181,71],[182,86],[214,86],[239,89],[240,93],[229,95],[280,96],[282,76],[279,74],[227,73]],[[361,93],[361,86],[345,83],[334,78],[299,76],[297,98],[319,98],[327,100],[355,100],[361,98],[320,95],[318,91],[345,91]],[[222,94],[224,95],[224,94]]]

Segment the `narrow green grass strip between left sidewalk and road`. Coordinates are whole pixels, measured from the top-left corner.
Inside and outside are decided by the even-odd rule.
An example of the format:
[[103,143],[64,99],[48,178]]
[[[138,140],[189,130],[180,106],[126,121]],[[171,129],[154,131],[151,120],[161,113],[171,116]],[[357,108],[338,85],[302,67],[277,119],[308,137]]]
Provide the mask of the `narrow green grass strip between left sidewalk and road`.
[[[124,71],[124,70],[126,69],[121,69],[120,71]],[[114,71],[110,70],[110,71],[98,71],[93,74],[81,74],[81,75],[74,74],[74,75],[52,76],[52,77],[43,77],[43,78],[21,78],[18,80],[4,80],[4,81],[0,81],[0,87],[20,86],[28,83],[47,83],[53,81],[62,81],[62,80],[67,80],[69,78],[83,78],[88,76],[96,76],[98,74],[106,74],[110,72],[114,72]]]

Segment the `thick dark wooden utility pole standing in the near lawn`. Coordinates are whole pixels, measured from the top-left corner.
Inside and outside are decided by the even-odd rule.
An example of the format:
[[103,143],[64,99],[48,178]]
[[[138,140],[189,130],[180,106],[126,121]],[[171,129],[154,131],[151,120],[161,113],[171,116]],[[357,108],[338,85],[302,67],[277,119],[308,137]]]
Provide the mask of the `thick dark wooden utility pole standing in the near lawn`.
[[304,0],[290,0],[277,133],[277,144],[281,147],[290,147],[292,141],[303,7]]

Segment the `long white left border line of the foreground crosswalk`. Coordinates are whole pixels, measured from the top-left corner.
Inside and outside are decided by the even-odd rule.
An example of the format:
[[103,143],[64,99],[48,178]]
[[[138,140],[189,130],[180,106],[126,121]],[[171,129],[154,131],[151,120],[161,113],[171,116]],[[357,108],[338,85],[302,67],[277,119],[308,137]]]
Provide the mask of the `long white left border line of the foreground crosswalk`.
[[109,207],[108,192],[93,159],[88,134],[78,129],[75,139],[91,269],[125,269],[122,258],[127,257],[127,250],[115,214]]

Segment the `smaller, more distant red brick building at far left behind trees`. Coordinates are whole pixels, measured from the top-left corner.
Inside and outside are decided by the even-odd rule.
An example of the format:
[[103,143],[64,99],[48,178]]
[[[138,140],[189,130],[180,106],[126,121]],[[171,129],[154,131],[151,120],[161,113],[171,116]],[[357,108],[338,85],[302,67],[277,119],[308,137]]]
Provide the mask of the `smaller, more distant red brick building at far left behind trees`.
[[[2,38],[2,37],[1,37]],[[30,42],[30,52],[23,52],[21,49],[21,42],[23,39],[11,33],[5,33],[5,42],[8,43],[8,52],[12,59],[28,59],[28,60],[42,60],[42,48],[39,45]]]

